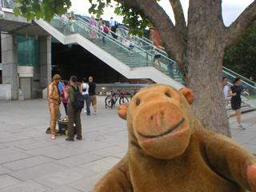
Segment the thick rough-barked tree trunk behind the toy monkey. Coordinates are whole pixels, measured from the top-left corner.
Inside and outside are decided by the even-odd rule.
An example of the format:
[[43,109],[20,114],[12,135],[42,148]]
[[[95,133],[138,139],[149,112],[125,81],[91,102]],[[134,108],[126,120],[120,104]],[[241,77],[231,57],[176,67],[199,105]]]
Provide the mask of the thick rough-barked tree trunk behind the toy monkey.
[[[190,1],[186,58],[186,86],[194,91],[194,115],[207,130],[230,135],[222,88],[225,26],[221,0]],[[182,67],[182,66],[181,66]],[[196,77],[196,78],[195,78]]]

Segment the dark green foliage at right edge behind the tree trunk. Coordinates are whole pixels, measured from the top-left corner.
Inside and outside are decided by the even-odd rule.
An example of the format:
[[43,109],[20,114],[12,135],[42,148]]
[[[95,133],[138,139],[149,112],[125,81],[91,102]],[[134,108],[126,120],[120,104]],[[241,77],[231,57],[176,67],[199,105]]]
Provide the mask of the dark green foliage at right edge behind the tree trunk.
[[246,78],[256,80],[256,21],[238,41],[226,49],[223,66]]

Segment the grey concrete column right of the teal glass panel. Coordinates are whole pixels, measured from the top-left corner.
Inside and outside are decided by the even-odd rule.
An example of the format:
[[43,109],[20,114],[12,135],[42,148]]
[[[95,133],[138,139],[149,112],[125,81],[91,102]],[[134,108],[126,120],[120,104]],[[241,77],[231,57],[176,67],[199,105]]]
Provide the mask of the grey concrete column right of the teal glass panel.
[[40,86],[46,88],[51,82],[51,36],[40,38]]

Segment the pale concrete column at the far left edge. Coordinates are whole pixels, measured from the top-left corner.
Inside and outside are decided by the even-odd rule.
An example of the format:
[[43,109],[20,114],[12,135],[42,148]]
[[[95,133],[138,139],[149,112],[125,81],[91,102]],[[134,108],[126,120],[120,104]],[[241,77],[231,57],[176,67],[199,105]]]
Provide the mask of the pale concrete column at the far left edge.
[[11,85],[11,98],[18,99],[17,38],[2,34],[2,83]]

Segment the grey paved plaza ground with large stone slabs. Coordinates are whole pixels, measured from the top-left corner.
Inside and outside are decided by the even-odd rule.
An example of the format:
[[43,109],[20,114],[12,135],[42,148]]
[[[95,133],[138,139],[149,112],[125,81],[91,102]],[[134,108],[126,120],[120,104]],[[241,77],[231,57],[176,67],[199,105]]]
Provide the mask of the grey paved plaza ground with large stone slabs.
[[[0,101],[0,192],[90,191],[128,149],[126,122],[104,99],[98,96],[98,114],[82,112],[83,139],[74,142],[46,134],[46,99]],[[246,130],[230,118],[232,138],[256,154],[256,111],[242,114],[242,123]]]

